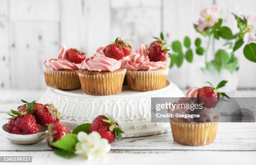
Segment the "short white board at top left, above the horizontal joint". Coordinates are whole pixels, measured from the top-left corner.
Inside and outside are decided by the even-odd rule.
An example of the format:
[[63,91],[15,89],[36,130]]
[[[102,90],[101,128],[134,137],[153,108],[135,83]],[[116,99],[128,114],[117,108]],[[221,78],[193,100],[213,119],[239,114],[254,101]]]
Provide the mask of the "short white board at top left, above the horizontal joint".
[[59,0],[10,0],[10,20],[59,20]]

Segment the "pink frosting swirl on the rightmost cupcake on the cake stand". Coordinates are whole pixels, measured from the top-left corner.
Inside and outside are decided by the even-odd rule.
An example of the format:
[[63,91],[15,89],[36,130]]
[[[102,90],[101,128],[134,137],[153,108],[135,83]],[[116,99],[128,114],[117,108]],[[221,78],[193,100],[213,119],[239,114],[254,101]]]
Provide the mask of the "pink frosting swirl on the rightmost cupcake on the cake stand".
[[141,44],[141,47],[138,50],[136,50],[136,53],[133,53],[131,55],[131,59],[123,63],[123,68],[126,68],[131,71],[151,71],[165,67],[165,61],[149,61],[147,54],[148,50],[146,50],[146,46],[144,44]]

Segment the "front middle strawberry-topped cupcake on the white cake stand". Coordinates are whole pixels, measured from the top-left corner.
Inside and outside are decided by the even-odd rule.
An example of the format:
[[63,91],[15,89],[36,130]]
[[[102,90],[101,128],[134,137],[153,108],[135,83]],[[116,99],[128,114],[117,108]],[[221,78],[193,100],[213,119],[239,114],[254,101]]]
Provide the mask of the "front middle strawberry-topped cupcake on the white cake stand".
[[78,75],[85,94],[109,95],[122,91],[126,69],[121,68],[125,53],[115,43],[97,48],[95,54],[81,63]]

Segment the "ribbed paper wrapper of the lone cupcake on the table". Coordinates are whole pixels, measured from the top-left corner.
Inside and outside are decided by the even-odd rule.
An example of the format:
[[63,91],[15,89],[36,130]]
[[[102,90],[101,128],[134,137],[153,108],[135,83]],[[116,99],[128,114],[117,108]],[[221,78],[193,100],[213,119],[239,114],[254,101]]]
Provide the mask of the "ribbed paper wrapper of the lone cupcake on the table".
[[215,140],[217,122],[171,122],[172,137],[182,145],[208,145]]

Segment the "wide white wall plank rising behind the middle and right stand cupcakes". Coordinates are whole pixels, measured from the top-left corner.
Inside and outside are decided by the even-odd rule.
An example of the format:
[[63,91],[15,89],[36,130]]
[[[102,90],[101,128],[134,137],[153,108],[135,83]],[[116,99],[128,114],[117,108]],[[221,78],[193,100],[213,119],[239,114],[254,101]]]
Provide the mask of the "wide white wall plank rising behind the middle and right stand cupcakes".
[[150,44],[161,32],[161,3],[159,1],[112,1],[110,36],[120,36],[133,46]]

